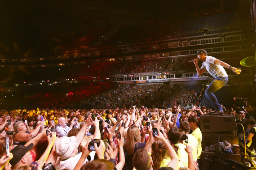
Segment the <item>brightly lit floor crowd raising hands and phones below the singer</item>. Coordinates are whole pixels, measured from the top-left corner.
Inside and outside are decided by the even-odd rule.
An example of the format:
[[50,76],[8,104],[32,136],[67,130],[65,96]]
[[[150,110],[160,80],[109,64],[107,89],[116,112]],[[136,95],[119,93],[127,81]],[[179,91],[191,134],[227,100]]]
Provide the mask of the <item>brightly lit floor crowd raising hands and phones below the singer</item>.
[[[199,119],[209,113],[208,108],[122,108],[1,110],[0,166],[5,170],[201,168]],[[225,114],[243,123],[247,140],[255,147],[256,121],[246,118],[246,110],[228,109]]]

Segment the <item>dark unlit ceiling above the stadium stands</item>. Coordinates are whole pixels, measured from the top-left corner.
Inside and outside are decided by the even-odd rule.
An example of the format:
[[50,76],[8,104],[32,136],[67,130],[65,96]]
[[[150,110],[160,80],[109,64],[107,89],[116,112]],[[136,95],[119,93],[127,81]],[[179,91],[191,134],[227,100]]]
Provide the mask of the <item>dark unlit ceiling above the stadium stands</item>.
[[[234,9],[234,1],[224,1],[227,9]],[[200,10],[200,5],[193,7],[200,3],[199,0],[3,0],[0,59],[52,54],[59,44],[86,36],[95,29],[138,26],[142,21],[182,20],[190,17],[194,9]]]

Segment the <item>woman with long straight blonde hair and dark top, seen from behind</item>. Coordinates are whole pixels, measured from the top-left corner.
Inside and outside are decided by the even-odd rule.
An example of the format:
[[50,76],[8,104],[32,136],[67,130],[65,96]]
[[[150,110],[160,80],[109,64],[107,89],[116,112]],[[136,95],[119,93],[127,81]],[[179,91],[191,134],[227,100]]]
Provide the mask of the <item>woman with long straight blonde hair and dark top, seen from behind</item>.
[[128,128],[124,142],[125,164],[123,170],[132,170],[132,157],[138,149],[145,148],[146,143],[141,143],[141,134],[137,126]]

